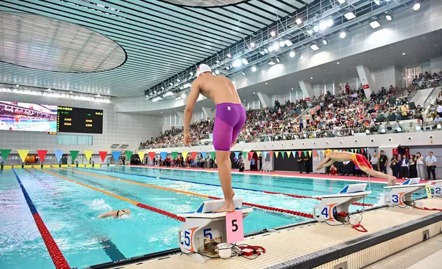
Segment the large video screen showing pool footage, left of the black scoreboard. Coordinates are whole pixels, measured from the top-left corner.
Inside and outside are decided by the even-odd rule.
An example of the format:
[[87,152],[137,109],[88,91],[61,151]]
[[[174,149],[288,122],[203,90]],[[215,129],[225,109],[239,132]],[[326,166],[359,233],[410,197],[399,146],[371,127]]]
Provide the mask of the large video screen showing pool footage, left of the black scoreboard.
[[57,106],[0,101],[0,130],[55,132]]

